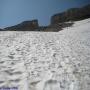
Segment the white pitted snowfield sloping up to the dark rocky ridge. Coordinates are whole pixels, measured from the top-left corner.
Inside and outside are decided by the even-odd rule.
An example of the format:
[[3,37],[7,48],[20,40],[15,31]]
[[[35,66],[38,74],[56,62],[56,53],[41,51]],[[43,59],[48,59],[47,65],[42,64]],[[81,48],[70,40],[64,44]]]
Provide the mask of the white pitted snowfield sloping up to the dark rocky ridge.
[[1,87],[90,90],[90,19],[60,32],[1,31]]

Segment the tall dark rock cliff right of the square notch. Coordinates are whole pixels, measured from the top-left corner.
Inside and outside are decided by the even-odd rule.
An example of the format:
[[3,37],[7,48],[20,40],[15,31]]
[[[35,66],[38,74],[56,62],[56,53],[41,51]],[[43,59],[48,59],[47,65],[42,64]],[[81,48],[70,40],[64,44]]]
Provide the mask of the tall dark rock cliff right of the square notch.
[[86,18],[90,18],[90,5],[84,6],[82,8],[71,8],[65,12],[55,14],[51,17],[51,24],[77,21]]

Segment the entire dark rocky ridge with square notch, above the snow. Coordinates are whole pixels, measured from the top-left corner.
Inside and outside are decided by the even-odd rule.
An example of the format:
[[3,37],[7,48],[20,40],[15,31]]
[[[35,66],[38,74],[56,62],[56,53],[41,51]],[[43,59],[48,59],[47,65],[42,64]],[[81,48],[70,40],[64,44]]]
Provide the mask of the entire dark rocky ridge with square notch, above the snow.
[[51,17],[51,24],[48,26],[39,26],[38,20],[32,20],[24,21],[15,26],[7,27],[4,30],[57,32],[65,27],[71,27],[74,24],[73,21],[87,18],[90,18],[90,5],[86,5],[82,8],[71,8],[65,12],[55,14]]

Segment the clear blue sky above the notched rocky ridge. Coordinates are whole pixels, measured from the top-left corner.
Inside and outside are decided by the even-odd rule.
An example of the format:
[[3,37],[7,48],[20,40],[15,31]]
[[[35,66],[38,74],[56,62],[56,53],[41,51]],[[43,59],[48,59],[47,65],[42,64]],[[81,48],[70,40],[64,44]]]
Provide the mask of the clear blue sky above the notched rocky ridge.
[[0,0],[0,28],[33,19],[48,25],[52,15],[86,4],[90,0]]

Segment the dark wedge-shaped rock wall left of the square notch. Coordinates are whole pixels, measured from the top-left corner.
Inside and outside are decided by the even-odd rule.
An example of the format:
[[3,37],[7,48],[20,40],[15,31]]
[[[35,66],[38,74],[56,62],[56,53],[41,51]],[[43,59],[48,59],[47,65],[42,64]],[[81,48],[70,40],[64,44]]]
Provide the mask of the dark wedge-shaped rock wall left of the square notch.
[[18,25],[7,27],[5,30],[15,30],[15,31],[32,31],[39,27],[38,20],[32,20],[32,21],[24,21]]

